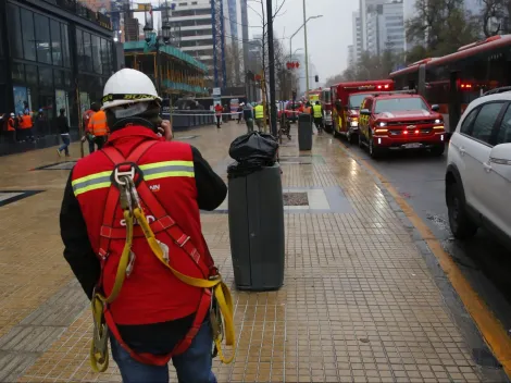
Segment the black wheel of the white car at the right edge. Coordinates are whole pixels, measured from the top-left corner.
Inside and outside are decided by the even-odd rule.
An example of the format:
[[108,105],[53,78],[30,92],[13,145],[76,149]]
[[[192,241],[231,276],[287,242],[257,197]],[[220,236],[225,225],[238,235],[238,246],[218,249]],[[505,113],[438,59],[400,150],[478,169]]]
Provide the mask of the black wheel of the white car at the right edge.
[[456,238],[466,239],[475,235],[477,225],[466,213],[463,187],[456,182],[447,184],[447,211],[449,226]]

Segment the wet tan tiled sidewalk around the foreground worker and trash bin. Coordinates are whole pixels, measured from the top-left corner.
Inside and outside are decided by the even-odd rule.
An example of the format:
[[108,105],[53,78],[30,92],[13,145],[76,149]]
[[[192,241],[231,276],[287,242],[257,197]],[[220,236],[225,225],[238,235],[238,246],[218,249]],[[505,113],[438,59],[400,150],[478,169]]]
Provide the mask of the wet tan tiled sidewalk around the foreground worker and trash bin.
[[[226,180],[228,145],[244,128],[229,123],[177,138]],[[237,355],[229,366],[215,361],[219,382],[506,381],[501,370],[475,363],[474,341],[448,307],[452,297],[375,178],[331,135],[314,136],[308,153],[298,151],[296,125],[291,134],[281,148],[283,185],[307,205],[286,207],[283,288],[236,292],[226,205],[202,214],[236,304]],[[59,233],[68,171],[30,171],[64,161],[54,148],[2,158],[0,192],[11,194],[0,193],[0,381],[121,381],[113,361],[103,374],[88,365],[88,301]],[[21,190],[43,192],[1,206]]]

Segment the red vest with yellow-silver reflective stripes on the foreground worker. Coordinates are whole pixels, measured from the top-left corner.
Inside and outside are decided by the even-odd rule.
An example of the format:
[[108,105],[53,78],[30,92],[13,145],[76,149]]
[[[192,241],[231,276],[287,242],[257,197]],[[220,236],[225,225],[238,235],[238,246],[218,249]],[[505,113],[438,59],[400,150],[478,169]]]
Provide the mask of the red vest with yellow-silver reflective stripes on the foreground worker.
[[[112,291],[126,236],[120,192],[112,176],[119,163],[124,163],[117,166],[121,171],[138,168],[135,181],[140,205],[157,239],[169,246],[170,264],[192,277],[208,279],[214,274],[216,269],[201,231],[191,147],[164,141],[147,127],[128,126],[114,132],[103,150],[79,160],[72,175],[90,244],[102,264],[99,287],[104,295]],[[188,348],[209,313],[211,291],[176,279],[152,254],[138,225],[132,249],[133,271],[119,297],[107,307],[107,323],[134,358],[162,366]],[[166,322],[192,313],[197,313],[192,329],[167,356],[133,353],[115,326]]]

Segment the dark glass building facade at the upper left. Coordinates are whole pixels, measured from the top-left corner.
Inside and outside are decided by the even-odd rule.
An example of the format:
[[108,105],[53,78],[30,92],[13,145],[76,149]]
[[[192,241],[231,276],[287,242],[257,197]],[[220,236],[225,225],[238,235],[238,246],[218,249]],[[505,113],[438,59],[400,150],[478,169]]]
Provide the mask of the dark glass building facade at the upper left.
[[[36,147],[54,145],[62,108],[78,136],[79,116],[100,101],[116,61],[109,20],[59,1],[0,1],[0,113],[17,114],[28,103]],[[2,135],[0,155],[17,151],[16,144]]]

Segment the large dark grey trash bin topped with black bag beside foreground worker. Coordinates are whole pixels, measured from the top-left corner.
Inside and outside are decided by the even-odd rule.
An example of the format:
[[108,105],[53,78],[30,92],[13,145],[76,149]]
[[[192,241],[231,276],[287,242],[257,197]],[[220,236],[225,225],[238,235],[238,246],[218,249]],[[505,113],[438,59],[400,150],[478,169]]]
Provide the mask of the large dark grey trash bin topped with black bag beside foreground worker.
[[257,138],[249,145],[256,144],[252,155],[258,160],[245,157],[245,161],[239,161],[235,158],[238,162],[228,169],[234,280],[238,289],[273,291],[284,283],[284,200],[281,166],[274,158],[272,161],[262,159],[262,153],[267,151],[269,156],[275,157],[278,144],[273,137],[274,144],[263,143],[267,135],[259,133],[241,137],[250,136]]

